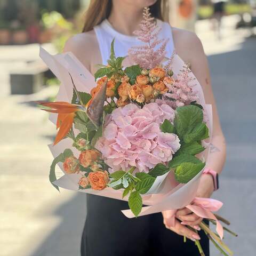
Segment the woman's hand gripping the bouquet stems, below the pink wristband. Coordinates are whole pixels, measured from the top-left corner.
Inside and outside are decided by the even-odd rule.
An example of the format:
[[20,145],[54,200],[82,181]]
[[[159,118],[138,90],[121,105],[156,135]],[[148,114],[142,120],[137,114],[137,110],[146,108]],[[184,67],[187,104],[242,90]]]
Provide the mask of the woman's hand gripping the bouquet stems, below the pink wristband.
[[[214,185],[211,175],[202,175],[196,196],[209,198],[212,195],[213,191]],[[198,224],[202,221],[202,218],[198,217],[195,213],[191,212],[186,207],[179,209],[175,213],[174,227],[170,227],[170,211],[163,211],[162,213],[164,218],[164,225],[166,228],[174,231],[179,235],[186,236],[193,241],[195,239],[200,239],[200,237],[194,231],[185,227],[190,226],[196,230],[200,230]]]

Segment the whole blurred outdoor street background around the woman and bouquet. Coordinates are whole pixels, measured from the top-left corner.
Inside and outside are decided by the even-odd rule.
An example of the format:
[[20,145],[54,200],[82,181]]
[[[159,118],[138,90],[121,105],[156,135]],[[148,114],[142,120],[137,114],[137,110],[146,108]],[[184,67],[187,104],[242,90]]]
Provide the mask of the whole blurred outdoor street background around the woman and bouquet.
[[[58,80],[39,44],[62,51],[79,33],[89,0],[0,0],[0,255],[79,255],[85,195],[48,181],[55,127],[35,100],[54,99]],[[170,0],[172,26],[194,30],[209,59],[227,162],[213,197],[239,236],[235,255],[255,255],[256,0]],[[220,7],[221,5],[221,7]],[[223,7],[223,8],[222,8]],[[216,12],[219,8],[221,12]],[[214,11],[215,10],[215,11]],[[211,255],[220,255],[213,247]]]

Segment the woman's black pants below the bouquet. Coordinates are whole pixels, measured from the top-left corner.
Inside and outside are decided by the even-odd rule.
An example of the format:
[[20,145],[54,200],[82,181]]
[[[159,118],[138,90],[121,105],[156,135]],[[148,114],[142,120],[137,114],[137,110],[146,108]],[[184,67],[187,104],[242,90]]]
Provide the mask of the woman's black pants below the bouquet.
[[[166,229],[162,213],[126,218],[127,202],[87,195],[87,218],[81,256],[182,256],[199,255],[194,242]],[[203,232],[200,243],[209,256],[209,240]]]

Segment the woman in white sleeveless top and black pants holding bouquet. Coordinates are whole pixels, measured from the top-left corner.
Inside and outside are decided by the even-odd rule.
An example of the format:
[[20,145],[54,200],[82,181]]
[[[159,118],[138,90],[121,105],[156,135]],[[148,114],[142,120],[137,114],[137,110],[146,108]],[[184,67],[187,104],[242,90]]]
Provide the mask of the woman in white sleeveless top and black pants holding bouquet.
[[[189,31],[172,28],[162,20],[161,4],[156,0],[94,0],[87,11],[82,34],[70,38],[65,51],[73,52],[76,57],[94,74],[97,64],[107,63],[110,43],[115,37],[117,56],[127,55],[127,50],[139,44],[132,32],[138,29],[142,19],[143,7],[150,6],[150,11],[162,27],[160,37],[169,37],[167,57],[174,50],[191,65],[191,70],[201,83],[207,103],[213,106],[213,150],[208,168],[220,173],[225,162],[225,139],[223,137],[217,108],[210,84],[207,60],[198,37]],[[162,10],[166,11],[166,5]],[[214,171],[202,175],[197,196],[210,197],[214,190]],[[213,174],[212,174],[213,173]],[[169,212],[127,219],[120,211],[127,209],[127,202],[115,199],[87,195],[87,218],[82,236],[82,256],[98,255],[198,255],[195,239],[201,239],[206,255],[209,255],[209,241],[196,229],[201,222],[196,214],[187,209],[177,211],[175,226],[170,226]],[[164,223],[164,224],[163,224]],[[172,230],[172,231],[170,231]],[[183,244],[183,237],[190,238]]]

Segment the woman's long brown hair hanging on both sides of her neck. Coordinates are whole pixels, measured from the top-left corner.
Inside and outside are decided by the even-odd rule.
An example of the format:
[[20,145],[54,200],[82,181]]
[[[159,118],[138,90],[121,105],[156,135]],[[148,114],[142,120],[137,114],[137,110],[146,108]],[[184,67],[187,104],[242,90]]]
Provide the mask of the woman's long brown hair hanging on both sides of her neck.
[[[85,13],[83,32],[92,30],[94,26],[99,25],[103,20],[107,19],[110,15],[111,8],[112,0],[91,0]],[[169,21],[168,1],[157,0],[157,2],[149,8],[153,17]]]

